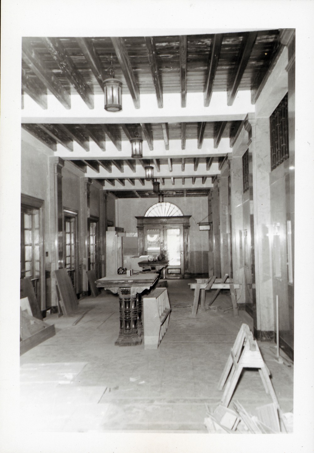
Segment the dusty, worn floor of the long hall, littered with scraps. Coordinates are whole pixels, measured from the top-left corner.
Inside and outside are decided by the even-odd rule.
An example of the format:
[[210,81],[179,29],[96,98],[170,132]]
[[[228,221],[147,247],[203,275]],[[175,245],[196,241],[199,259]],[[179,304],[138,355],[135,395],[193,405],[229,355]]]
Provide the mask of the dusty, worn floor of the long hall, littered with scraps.
[[[56,335],[20,357],[21,429],[207,434],[205,403],[219,403],[217,383],[230,348],[242,323],[252,328],[252,320],[244,311],[233,317],[227,291],[193,318],[192,281],[168,280],[172,312],[157,350],[114,345],[119,304],[107,291],[81,299],[78,314],[48,315]],[[292,412],[293,366],[274,360],[275,344],[259,346],[281,409]],[[271,397],[259,373],[247,370],[232,400],[254,415]]]

